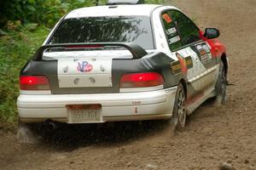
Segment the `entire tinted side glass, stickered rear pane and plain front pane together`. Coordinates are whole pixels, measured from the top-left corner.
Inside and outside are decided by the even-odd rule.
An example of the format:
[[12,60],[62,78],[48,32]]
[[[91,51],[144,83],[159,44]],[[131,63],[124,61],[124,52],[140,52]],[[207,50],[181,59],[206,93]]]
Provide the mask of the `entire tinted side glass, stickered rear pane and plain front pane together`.
[[172,51],[200,40],[199,29],[184,14],[176,10],[164,12],[163,24],[169,47]]

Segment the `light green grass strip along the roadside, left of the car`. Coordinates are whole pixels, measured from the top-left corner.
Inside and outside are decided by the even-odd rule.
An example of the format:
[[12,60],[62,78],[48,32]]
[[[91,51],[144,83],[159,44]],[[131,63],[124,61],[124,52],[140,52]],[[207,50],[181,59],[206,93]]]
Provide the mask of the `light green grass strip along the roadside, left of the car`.
[[15,125],[20,69],[49,33],[44,26],[32,30],[20,26],[17,31],[9,31],[0,37],[0,122]]

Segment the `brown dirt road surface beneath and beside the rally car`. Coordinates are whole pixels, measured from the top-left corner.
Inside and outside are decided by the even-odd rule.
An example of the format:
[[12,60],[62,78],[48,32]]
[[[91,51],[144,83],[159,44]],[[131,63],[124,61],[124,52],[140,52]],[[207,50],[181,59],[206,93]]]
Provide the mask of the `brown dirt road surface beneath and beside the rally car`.
[[175,0],[201,26],[217,27],[230,57],[227,105],[208,101],[182,132],[166,122],[62,127],[41,144],[0,129],[0,169],[256,169],[256,1]]

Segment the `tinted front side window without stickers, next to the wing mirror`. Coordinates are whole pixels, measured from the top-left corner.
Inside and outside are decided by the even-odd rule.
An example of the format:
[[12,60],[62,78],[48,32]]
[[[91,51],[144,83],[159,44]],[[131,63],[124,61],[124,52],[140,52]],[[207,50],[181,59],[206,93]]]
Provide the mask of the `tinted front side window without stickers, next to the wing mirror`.
[[172,20],[174,20],[173,24],[176,26],[179,32],[183,45],[200,40],[198,27],[195,26],[195,24],[184,14],[176,10],[168,11],[168,14],[170,14]]

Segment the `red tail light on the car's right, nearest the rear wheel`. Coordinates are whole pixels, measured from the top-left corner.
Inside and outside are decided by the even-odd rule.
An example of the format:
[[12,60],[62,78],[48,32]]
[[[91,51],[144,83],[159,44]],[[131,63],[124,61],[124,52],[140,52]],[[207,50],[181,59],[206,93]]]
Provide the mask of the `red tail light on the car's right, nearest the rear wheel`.
[[164,78],[157,72],[131,73],[121,77],[120,88],[147,88],[164,82]]

